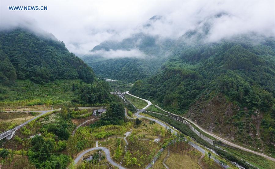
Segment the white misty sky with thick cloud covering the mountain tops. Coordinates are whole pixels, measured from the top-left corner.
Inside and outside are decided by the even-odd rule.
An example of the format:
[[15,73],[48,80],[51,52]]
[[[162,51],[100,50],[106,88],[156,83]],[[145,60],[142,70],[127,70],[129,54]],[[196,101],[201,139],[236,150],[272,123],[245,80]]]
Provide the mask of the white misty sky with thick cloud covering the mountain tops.
[[[69,51],[86,54],[105,40],[143,32],[177,39],[207,22],[207,41],[244,33],[274,37],[274,1],[1,1],[1,29],[27,26],[64,41]],[[47,6],[47,11],[9,11],[8,6]],[[225,14],[222,17],[214,17]],[[162,16],[144,28],[152,16]],[[114,52],[114,51],[111,51]]]

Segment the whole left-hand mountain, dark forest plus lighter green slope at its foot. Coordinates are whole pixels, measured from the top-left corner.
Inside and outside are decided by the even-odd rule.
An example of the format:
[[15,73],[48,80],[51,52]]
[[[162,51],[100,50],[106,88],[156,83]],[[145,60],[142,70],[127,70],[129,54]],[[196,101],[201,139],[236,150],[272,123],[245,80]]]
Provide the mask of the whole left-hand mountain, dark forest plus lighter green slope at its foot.
[[0,58],[3,105],[15,100],[24,105],[110,100],[107,82],[97,79],[93,69],[52,34],[23,28],[1,31]]

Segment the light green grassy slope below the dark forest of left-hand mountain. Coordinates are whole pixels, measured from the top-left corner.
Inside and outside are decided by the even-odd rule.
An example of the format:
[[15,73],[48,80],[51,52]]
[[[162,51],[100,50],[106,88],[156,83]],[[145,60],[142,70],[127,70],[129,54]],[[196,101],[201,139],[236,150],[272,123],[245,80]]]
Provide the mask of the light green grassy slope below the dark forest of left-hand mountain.
[[16,80],[13,86],[0,85],[0,107],[52,105],[67,100],[79,99],[71,88],[79,80],[57,80],[46,84],[35,84],[30,80]]

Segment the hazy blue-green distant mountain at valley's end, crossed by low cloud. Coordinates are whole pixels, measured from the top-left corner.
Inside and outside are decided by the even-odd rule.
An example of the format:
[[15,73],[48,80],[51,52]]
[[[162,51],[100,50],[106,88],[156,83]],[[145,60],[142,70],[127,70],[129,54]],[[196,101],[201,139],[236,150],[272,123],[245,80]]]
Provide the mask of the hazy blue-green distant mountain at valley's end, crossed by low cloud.
[[[143,27],[150,27],[158,18],[150,18]],[[82,59],[97,75],[134,82],[155,74],[167,60],[169,49],[174,43],[173,39],[140,32],[122,41],[105,41],[95,46]],[[116,53],[116,56],[111,53]]]

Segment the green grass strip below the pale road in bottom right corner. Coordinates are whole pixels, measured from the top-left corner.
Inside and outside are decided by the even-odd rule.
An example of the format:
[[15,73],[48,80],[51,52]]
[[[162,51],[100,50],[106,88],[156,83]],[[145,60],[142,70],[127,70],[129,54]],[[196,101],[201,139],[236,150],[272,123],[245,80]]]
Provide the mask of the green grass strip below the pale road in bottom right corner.
[[255,167],[258,167],[259,169],[273,169],[275,166],[274,161],[267,160],[262,156],[257,156],[255,154],[242,151],[240,149],[233,149],[233,148],[227,148],[227,147],[222,147],[222,148],[232,153],[233,155],[238,156],[241,159],[247,161],[248,163],[251,163]]

